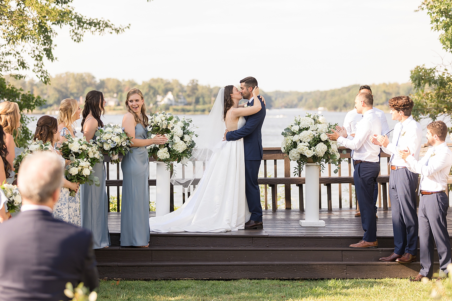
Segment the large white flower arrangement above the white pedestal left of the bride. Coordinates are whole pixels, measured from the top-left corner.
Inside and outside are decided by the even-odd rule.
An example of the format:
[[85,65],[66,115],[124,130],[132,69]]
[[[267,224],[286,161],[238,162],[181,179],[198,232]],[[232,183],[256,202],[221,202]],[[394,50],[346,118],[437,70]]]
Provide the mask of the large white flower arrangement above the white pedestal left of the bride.
[[149,157],[165,162],[168,168],[171,162],[187,160],[195,146],[193,137],[198,137],[193,132],[195,128],[190,118],[180,119],[171,113],[155,113],[149,120],[148,136],[152,138],[156,134],[162,134],[168,138],[168,142],[148,146]]

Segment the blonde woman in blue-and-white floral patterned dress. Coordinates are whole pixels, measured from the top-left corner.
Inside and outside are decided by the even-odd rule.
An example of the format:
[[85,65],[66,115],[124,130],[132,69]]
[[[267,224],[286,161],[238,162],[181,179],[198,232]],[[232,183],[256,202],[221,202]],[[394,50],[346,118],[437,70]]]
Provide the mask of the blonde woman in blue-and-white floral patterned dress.
[[[60,103],[60,111],[58,112],[58,142],[54,148],[60,146],[63,141],[67,140],[67,134],[75,137],[74,123],[80,119],[80,106],[75,99],[66,98]],[[63,222],[68,222],[80,227],[80,191],[75,196],[71,196],[69,190],[61,190],[61,196],[53,208],[53,217]]]

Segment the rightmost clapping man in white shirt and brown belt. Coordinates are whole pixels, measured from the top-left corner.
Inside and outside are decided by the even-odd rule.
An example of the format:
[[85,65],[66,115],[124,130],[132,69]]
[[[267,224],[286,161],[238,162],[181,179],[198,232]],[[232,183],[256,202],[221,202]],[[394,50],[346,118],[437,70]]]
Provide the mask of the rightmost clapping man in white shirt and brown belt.
[[447,232],[446,214],[449,208],[447,179],[452,166],[452,152],[446,145],[447,126],[436,120],[427,125],[427,141],[432,146],[425,156],[416,160],[410,149],[401,150],[399,157],[406,161],[410,171],[421,175],[419,183],[419,249],[421,270],[410,281],[421,281],[433,275],[433,238],[439,255],[441,271],[448,273],[451,263],[451,244]]

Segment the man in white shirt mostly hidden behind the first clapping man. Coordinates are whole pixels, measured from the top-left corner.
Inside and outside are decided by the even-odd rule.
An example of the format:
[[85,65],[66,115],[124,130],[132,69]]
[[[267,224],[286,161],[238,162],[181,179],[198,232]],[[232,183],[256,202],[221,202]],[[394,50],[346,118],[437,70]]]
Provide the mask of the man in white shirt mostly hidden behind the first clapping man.
[[[359,87],[358,93],[370,93],[372,95],[372,90],[369,85],[363,85]],[[373,95],[372,95],[373,97]],[[389,132],[389,125],[388,121],[386,120],[385,112],[381,111],[380,109],[373,107],[373,110],[375,114],[380,118],[381,122],[381,134],[385,135]],[[347,115],[345,115],[344,118],[344,128],[347,130],[348,135],[354,136],[356,133],[356,124],[359,120],[363,119],[363,114],[358,114],[356,109],[353,109],[352,111],[348,111]],[[373,191],[373,204],[375,207],[375,214],[377,214],[377,200],[378,200],[378,183],[375,184],[375,189]],[[361,216],[361,212],[358,211],[355,213],[355,216]],[[377,216],[378,218],[378,216]]]

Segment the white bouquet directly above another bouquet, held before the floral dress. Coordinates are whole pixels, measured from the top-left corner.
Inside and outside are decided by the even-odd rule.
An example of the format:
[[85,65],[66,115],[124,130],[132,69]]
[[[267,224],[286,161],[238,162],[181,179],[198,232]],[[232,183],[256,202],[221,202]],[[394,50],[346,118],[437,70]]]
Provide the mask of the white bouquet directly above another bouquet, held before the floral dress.
[[66,160],[73,159],[85,159],[88,158],[91,166],[99,163],[104,159],[102,153],[99,152],[99,148],[96,144],[93,144],[93,140],[86,141],[85,136],[81,138],[72,137],[66,135],[66,141],[63,141],[58,148],[61,156]]

